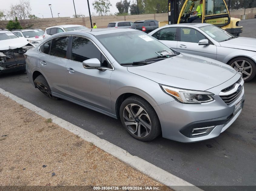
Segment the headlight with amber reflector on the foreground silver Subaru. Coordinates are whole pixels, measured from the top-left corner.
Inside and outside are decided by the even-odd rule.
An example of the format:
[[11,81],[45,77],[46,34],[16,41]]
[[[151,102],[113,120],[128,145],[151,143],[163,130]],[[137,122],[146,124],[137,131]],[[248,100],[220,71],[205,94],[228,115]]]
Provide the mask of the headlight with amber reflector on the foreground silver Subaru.
[[165,85],[160,85],[165,93],[171,95],[176,98],[176,100],[181,103],[194,103],[201,104],[205,102],[212,101],[213,98],[211,95],[214,95],[207,91],[193,91],[193,90],[185,90],[179,88],[173,88]]

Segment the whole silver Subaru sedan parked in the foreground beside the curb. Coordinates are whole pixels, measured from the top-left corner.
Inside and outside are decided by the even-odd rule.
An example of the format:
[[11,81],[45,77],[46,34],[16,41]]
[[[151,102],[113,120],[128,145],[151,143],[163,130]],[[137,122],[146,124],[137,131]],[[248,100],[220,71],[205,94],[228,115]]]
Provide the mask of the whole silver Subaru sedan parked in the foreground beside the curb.
[[120,118],[141,141],[214,138],[244,105],[244,81],[229,65],[135,29],[59,33],[25,56],[28,79],[43,94]]

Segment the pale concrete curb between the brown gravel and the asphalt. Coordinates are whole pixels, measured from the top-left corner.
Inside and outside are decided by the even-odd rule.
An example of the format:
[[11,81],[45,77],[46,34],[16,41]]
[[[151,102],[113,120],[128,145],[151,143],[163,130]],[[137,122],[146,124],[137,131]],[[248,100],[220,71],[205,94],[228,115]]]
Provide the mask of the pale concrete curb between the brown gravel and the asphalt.
[[52,122],[61,126],[64,129],[67,129],[68,131],[74,133],[75,135],[80,136],[84,140],[88,142],[92,142],[94,145],[96,145],[98,148],[101,148],[105,152],[111,154],[112,156],[118,158],[120,161],[124,162],[125,164],[128,164],[130,167],[138,170],[139,172],[147,175],[148,177],[151,177],[152,179],[170,187],[171,189],[175,191],[202,191],[202,189],[194,186],[193,184],[190,184],[186,182],[185,180],[176,177],[175,175],[168,173],[167,171],[156,167],[154,164],[151,164],[137,156],[132,156],[124,149],[99,138],[98,136],[81,129],[78,126],[73,125],[72,123],[69,123],[65,121],[64,119],[61,119],[55,115],[52,115],[51,113],[48,113],[45,110],[42,110],[41,108],[33,105],[32,103],[29,103],[5,90],[0,88],[0,93],[5,95],[6,97],[9,97],[10,99],[14,100],[15,102],[23,105],[24,107],[28,108],[29,110],[34,111],[38,115],[44,117],[44,118],[51,118]]

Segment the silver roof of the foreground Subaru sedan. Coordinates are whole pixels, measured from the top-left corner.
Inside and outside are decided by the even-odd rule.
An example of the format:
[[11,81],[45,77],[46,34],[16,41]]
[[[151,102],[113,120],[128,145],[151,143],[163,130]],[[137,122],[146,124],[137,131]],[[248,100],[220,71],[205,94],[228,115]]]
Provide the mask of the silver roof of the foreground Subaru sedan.
[[86,32],[90,33],[93,36],[101,35],[101,34],[110,34],[110,33],[120,33],[120,32],[127,32],[127,31],[139,31],[136,29],[130,29],[130,28],[97,28],[97,29],[85,29],[85,30],[78,30],[73,31],[75,32]]

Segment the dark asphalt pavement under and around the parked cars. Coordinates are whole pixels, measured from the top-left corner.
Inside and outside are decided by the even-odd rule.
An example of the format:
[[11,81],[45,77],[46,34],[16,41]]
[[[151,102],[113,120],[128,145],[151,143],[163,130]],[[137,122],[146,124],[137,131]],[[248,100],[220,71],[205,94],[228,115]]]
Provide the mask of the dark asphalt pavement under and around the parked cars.
[[[250,37],[256,38],[255,22],[256,19],[241,21],[240,25],[244,26],[241,36],[250,36],[253,27],[254,35]],[[219,137],[197,143],[180,143],[162,137],[140,142],[126,132],[119,120],[65,100],[49,99],[29,83],[25,73],[0,76],[0,88],[189,183],[203,186],[204,190],[228,189],[217,186],[256,186],[256,78],[244,85],[246,100],[238,119]],[[240,187],[232,189],[240,190]],[[246,189],[243,187],[243,190]]]

